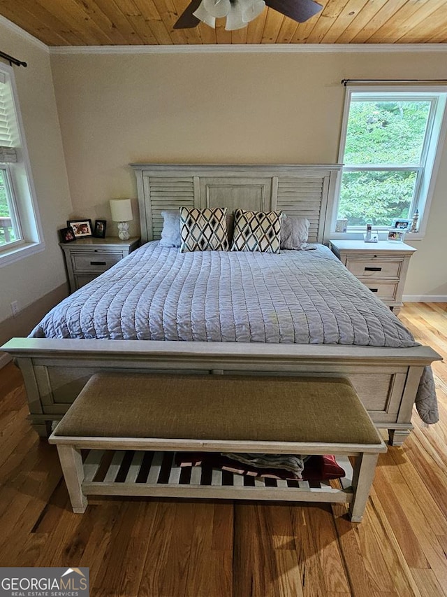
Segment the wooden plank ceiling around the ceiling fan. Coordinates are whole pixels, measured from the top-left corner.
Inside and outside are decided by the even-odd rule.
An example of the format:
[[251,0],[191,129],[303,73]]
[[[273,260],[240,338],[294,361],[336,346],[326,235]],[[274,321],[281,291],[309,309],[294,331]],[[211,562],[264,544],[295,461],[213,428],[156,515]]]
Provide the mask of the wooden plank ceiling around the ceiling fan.
[[189,0],[0,0],[0,15],[50,46],[447,43],[446,0],[318,2],[323,10],[305,23],[266,8],[239,31],[223,19],[216,29],[173,29]]

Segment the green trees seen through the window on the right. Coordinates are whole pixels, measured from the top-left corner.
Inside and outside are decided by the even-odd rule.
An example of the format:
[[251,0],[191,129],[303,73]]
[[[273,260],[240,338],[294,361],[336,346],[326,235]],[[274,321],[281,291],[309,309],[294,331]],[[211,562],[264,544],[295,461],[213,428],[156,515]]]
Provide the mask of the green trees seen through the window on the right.
[[433,104],[351,97],[337,216],[349,227],[413,216]]

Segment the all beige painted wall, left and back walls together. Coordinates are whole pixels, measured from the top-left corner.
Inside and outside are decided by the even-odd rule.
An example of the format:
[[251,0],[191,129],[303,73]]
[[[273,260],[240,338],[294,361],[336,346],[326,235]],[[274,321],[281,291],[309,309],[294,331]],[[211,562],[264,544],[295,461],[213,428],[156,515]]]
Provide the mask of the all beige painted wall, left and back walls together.
[[[427,52],[50,56],[1,20],[0,37],[29,63],[15,76],[46,244],[0,269],[0,322],[13,300],[26,308],[66,283],[67,218],[113,230],[108,199],[136,197],[129,162],[336,162],[342,78],[447,78],[445,55]],[[406,295],[447,295],[446,187],[444,148]]]

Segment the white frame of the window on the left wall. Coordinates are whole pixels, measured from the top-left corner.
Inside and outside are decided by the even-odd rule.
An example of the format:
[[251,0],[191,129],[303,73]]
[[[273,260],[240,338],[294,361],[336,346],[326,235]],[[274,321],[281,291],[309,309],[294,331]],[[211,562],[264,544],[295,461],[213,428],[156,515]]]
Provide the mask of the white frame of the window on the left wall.
[[22,115],[18,101],[13,68],[0,63],[0,80],[10,87],[13,98],[13,118],[17,125],[17,162],[0,162],[0,169],[6,172],[7,192],[12,205],[11,219],[15,219],[20,239],[0,246],[0,267],[34,255],[45,249],[41,218],[36,201],[36,190],[31,175],[31,164],[24,134]]

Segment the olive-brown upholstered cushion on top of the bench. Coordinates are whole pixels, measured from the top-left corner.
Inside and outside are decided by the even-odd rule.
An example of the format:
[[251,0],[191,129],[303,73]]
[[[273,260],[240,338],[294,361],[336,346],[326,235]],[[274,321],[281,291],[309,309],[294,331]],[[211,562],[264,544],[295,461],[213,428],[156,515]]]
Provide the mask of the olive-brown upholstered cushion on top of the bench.
[[54,436],[379,444],[349,380],[98,373]]

